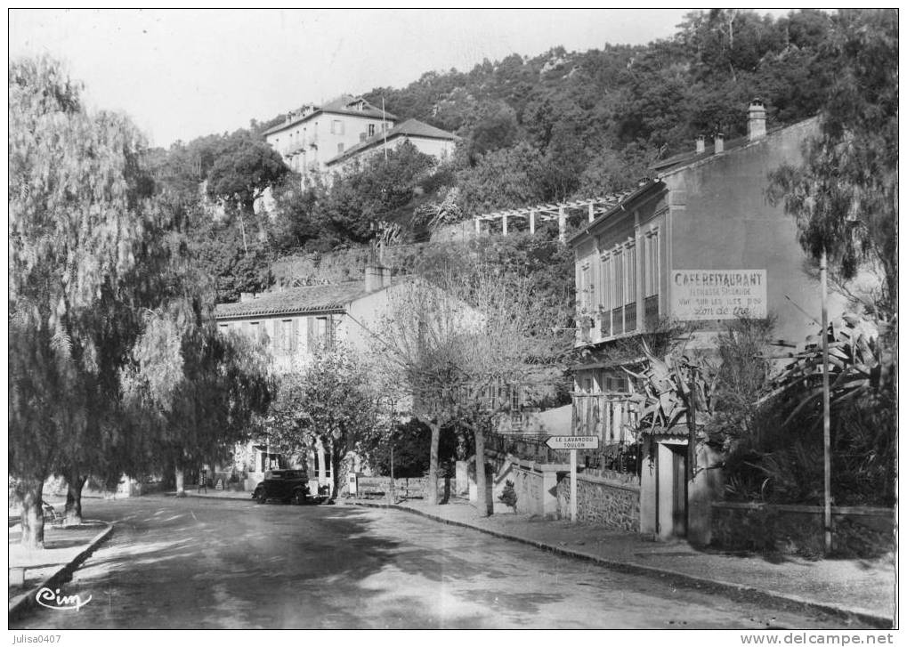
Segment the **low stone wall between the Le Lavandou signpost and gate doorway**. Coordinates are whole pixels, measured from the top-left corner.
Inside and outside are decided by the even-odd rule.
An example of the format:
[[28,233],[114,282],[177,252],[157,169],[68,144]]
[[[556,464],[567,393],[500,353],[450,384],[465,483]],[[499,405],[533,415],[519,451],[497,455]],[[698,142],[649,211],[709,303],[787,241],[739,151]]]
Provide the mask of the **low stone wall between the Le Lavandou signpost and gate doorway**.
[[[623,479],[621,479],[623,480]],[[558,484],[558,513],[570,518],[570,476]],[[639,533],[639,485],[577,475],[577,521]]]

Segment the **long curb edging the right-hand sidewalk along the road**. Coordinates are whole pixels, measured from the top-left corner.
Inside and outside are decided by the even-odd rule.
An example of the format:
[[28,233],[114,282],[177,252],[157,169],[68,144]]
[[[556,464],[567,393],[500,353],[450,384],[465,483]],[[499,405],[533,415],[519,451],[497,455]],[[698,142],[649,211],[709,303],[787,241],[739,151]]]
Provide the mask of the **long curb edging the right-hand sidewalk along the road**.
[[781,603],[785,604],[785,606],[793,607],[794,609],[800,611],[826,613],[829,615],[834,615],[835,617],[844,618],[845,620],[858,620],[879,629],[891,629],[893,626],[892,619],[886,618],[883,615],[866,613],[861,610],[850,609],[837,604],[815,602],[814,600],[807,600],[797,595],[767,591],[746,584],[736,584],[724,582],[722,580],[710,580],[705,577],[697,577],[696,575],[689,575],[687,573],[678,573],[678,571],[671,571],[667,568],[658,568],[656,566],[646,566],[643,564],[633,564],[629,562],[618,562],[606,557],[601,557],[600,555],[584,553],[582,551],[573,550],[571,548],[564,548],[562,546],[553,544],[545,544],[544,542],[536,541],[534,539],[527,539],[525,537],[519,537],[513,534],[506,534],[497,530],[492,530],[490,528],[483,528],[477,525],[463,523],[461,521],[454,521],[453,519],[445,519],[442,516],[432,515],[430,513],[423,512],[422,510],[415,510],[414,508],[405,507],[403,505],[369,504],[358,502],[352,505],[358,505],[360,507],[399,510],[401,512],[407,512],[412,515],[424,516],[427,519],[431,519],[442,524],[456,525],[463,528],[472,528],[473,530],[477,530],[480,533],[491,534],[501,539],[508,539],[513,542],[519,542],[520,544],[528,544],[536,548],[540,548],[543,551],[548,551],[549,553],[560,554],[565,557],[573,557],[576,559],[595,562],[597,564],[600,564],[601,566],[604,566],[605,568],[608,568],[611,571],[616,571],[618,573],[648,575],[649,577],[658,577],[658,579],[662,581],[667,581],[668,583],[683,586],[685,588],[693,588],[700,591],[707,589],[707,591],[710,593],[724,593],[737,602],[768,603],[772,605]]

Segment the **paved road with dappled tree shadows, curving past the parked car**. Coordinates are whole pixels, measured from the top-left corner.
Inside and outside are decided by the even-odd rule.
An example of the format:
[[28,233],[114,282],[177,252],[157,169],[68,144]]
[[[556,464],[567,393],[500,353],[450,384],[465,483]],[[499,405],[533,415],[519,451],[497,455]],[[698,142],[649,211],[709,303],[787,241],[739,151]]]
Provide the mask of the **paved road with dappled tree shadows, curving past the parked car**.
[[396,511],[141,497],[86,501],[116,531],[20,629],[840,626]]

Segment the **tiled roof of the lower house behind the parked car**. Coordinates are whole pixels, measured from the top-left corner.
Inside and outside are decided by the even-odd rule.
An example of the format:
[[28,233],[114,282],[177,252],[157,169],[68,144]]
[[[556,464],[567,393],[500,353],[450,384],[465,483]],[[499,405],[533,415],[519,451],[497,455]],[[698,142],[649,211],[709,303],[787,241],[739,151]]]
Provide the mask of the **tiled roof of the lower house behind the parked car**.
[[304,314],[345,309],[346,304],[367,294],[365,282],[349,281],[336,285],[309,285],[259,294],[257,299],[239,303],[219,303],[214,310],[217,319],[254,317],[256,315]]

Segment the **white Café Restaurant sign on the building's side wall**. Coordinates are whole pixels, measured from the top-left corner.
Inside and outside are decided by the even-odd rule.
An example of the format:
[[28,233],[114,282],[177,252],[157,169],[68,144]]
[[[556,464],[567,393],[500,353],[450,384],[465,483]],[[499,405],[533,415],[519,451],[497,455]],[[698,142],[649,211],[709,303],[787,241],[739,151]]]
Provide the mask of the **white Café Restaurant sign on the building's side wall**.
[[671,314],[681,320],[765,319],[766,270],[673,270]]

